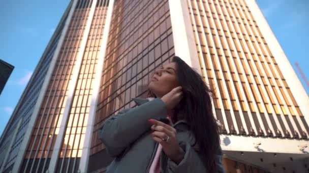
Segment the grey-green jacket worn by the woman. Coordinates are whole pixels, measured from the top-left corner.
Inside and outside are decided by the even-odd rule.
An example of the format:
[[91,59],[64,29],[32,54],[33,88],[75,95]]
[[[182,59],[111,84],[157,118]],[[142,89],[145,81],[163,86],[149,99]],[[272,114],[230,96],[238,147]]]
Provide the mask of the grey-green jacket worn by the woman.
[[[151,137],[151,124],[147,120],[166,117],[165,103],[160,98],[152,101],[138,98],[133,100],[137,107],[122,110],[106,120],[99,129],[99,138],[105,144],[107,153],[115,158],[107,173],[148,173],[158,147],[158,143]],[[177,131],[179,146],[185,154],[177,165],[162,151],[162,173],[207,172],[186,121],[178,121],[173,126]],[[215,159],[218,172],[224,172],[222,158],[220,148]]]

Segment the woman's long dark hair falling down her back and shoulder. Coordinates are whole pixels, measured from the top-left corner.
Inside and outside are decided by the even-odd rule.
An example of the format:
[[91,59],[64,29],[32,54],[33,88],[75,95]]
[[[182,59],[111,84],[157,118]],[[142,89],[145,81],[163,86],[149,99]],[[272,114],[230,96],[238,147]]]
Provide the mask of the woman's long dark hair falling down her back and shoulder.
[[217,172],[214,160],[220,137],[218,122],[212,114],[212,91],[203,77],[186,62],[177,56],[173,57],[172,62],[177,64],[177,77],[183,92],[183,98],[175,112],[181,112],[189,123],[208,172]]

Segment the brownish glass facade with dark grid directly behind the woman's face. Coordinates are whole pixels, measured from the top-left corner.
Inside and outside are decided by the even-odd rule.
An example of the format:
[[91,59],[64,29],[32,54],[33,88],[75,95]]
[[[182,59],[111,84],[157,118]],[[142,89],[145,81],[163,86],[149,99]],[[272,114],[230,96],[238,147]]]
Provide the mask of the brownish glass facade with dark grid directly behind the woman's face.
[[102,121],[133,107],[131,98],[147,94],[154,69],[174,56],[168,1],[115,1],[111,21],[89,164],[104,152]]

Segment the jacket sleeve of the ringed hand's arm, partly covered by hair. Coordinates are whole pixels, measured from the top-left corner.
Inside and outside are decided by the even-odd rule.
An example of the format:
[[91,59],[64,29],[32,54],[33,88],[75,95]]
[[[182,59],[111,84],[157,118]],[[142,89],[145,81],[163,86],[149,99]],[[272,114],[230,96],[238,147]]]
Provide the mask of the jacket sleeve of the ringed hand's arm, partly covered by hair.
[[[184,157],[181,162],[177,165],[171,159],[168,158],[168,173],[189,173],[189,172],[203,172],[207,173],[199,153],[187,142],[184,148]],[[215,164],[219,173],[225,173],[223,167],[223,155],[221,147],[219,148],[218,154],[215,157]]]

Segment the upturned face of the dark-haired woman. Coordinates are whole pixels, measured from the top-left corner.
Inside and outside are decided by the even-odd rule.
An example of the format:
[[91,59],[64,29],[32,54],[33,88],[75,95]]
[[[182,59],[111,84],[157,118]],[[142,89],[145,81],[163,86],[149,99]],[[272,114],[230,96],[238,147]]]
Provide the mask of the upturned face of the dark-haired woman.
[[148,89],[157,97],[163,97],[172,89],[179,86],[177,79],[177,65],[172,62],[160,66],[151,77]]

